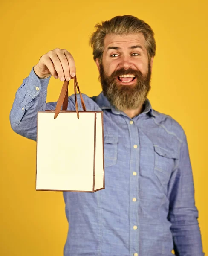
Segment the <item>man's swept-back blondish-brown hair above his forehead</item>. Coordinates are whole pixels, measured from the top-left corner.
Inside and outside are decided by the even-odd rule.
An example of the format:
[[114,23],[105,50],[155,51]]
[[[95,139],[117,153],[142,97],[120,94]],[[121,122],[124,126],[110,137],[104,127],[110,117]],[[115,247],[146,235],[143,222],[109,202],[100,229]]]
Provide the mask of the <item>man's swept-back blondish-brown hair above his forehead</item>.
[[142,33],[145,38],[145,47],[147,49],[148,59],[155,56],[156,43],[154,32],[151,27],[143,20],[139,20],[132,15],[116,16],[110,20],[102,21],[95,25],[96,31],[90,37],[90,45],[93,49],[94,61],[98,58],[101,64],[104,52],[104,38],[108,34],[127,35]]

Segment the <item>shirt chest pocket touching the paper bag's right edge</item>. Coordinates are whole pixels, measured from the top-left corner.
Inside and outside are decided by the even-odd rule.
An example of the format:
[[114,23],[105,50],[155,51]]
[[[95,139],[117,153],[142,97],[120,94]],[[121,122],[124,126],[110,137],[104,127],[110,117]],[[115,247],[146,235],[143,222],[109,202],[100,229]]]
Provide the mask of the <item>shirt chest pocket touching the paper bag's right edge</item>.
[[117,157],[118,157],[118,136],[104,134],[105,167],[116,164]]

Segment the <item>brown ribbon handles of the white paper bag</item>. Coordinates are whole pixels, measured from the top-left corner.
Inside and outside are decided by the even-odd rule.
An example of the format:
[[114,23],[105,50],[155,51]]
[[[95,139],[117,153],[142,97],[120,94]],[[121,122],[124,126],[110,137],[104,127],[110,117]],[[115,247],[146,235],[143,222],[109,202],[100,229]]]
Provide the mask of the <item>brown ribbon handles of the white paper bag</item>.
[[[79,110],[78,110],[78,102],[77,102],[77,89],[78,89],[78,92],[80,94],[81,105],[82,105],[82,108],[83,108],[84,111],[86,111],[86,107],[85,107],[85,104],[84,104],[84,99],[82,98],[82,95],[81,95],[81,91],[79,89],[79,85],[78,85],[78,82],[77,82],[77,77],[75,76],[72,79],[74,79],[75,107],[76,107],[76,112],[77,112],[77,118],[79,119]],[[56,108],[55,108],[54,119],[56,119],[56,117],[60,113],[62,105],[63,105],[62,110],[67,110],[68,97],[69,97],[68,86],[69,86],[69,81],[65,80],[64,84],[62,86],[62,89],[61,89],[60,96],[58,98]]]

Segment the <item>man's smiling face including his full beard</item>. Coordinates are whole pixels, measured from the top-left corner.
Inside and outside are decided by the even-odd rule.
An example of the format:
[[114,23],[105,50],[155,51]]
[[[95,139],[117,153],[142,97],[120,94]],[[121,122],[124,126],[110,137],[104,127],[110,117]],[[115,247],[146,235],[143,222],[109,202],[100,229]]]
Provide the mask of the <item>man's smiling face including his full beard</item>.
[[138,108],[150,90],[152,63],[142,33],[106,35],[102,63],[96,64],[110,103],[119,110]]

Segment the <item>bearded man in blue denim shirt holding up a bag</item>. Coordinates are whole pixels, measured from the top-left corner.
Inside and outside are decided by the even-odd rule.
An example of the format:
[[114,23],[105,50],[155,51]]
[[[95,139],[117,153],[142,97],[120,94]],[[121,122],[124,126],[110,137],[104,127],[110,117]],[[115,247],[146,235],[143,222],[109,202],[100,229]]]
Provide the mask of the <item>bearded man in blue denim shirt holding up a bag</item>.
[[[90,43],[103,91],[83,97],[87,110],[104,112],[105,189],[64,192],[70,226],[64,256],[171,256],[173,249],[202,256],[185,132],[147,99],[154,33],[131,15],[95,27]],[[69,81],[75,72],[66,49],[43,55],[17,90],[13,130],[36,140],[37,111],[57,103],[46,103],[50,77]],[[68,110],[74,102],[72,95]]]

